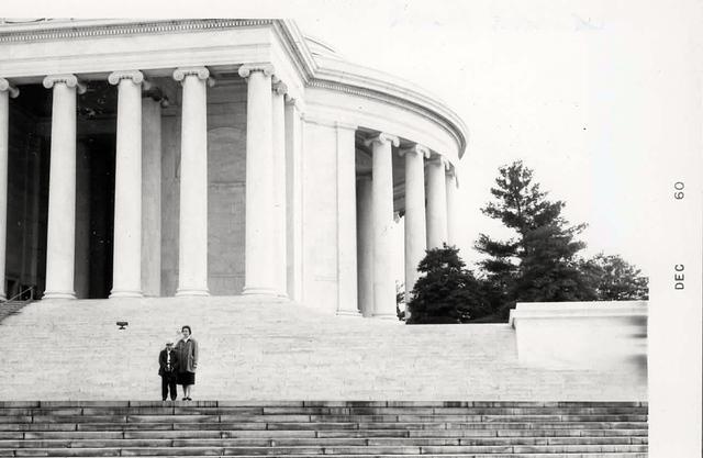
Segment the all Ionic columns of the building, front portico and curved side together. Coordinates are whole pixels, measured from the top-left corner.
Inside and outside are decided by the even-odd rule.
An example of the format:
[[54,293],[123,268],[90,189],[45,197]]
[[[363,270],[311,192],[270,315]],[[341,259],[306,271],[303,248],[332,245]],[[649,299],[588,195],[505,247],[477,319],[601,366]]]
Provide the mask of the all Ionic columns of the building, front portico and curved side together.
[[[291,121],[287,118],[290,112],[284,99],[287,88],[275,77],[271,65],[244,65],[239,67],[239,76],[247,80],[244,293],[284,295],[290,277],[286,262],[286,227],[290,217],[287,214],[286,180],[286,150],[290,142],[286,125]],[[212,86],[213,80],[205,67],[178,68],[174,71],[174,78],[182,86],[179,280],[176,294],[207,295],[207,87]],[[144,277],[143,252],[146,246],[153,245],[143,241],[143,222],[148,219],[144,219],[142,209],[142,150],[145,147],[142,144],[142,113],[145,109],[142,89],[149,83],[138,70],[114,71],[108,79],[118,87],[114,277],[111,297],[140,297]],[[54,92],[45,298],[72,299],[76,93],[85,91],[85,87],[74,75],[48,76],[44,79],[44,86]],[[7,208],[8,97],[16,97],[16,92],[7,80],[0,79],[1,219],[7,217],[1,209]],[[154,109],[149,102],[147,113]],[[149,115],[146,119],[152,118]],[[160,136],[160,129],[154,127],[154,131],[158,131]],[[146,143],[150,136],[144,138]],[[395,284],[391,265],[394,225],[392,147],[399,146],[399,138],[381,133],[366,143],[372,149],[372,180],[362,178],[357,183],[357,295],[361,304],[378,304],[370,308],[373,316],[394,317]],[[160,149],[158,145],[149,145],[149,148],[154,147]],[[447,206],[454,204],[456,178],[454,174],[445,174],[448,164],[442,157],[425,161],[431,158],[431,153],[422,145],[401,149],[400,155],[405,160],[405,288],[411,291],[425,248],[454,242],[449,236],[454,212],[448,212]],[[370,212],[364,209],[370,209]],[[160,209],[145,210],[160,213]],[[0,220],[0,232],[5,226],[5,222]],[[3,260],[5,237],[1,235],[0,260]],[[0,268],[4,268],[4,262],[0,262]]]

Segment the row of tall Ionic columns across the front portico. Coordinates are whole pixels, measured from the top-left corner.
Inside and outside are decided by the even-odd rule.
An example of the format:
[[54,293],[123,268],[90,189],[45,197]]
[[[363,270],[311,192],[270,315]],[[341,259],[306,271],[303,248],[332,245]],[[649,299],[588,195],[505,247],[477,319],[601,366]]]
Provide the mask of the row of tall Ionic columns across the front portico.
[[[270,65],[239,68],[247,85],[246,259],[245,294],[286,295],[286,109],[287,87],[274,77]],[[179,278],[176,295],[208,295],[208,129],[207,88],[214,83],[205,67],[178,68],[174,79],[182,86],[181,174],[179,212]],[[108,80],[118,87],[114,256],[111,298],[141,297],[145,244],[143,148],[160,150],[160,138],[145,136],[143,145],[142,90],[150,87],[140,70],[114,71]],[[47,217],[46,299],[75,299],[76,231],[76,94],[86,88],[75,75],[52,75],[43,80],[53,90],[49,202]],[[7,230],[9,97],[18,89],[0,78],[0,279],[4,278]],[[146,113],[156,105],[146,102]],[[153,116],[148,119],[153,122]],[[160,116],[160,113],[158,113]],[[160,123],[159,123],[160,124]],[[149,125],[160,137],[160,125]],[[152,168],[147,161],[149,172]],[[160,158],[158,159],[160,160]],[[149,180],[153,183],[153,180]],[[160,186],[160,180],[159,180]],[[158,206],[158,205],[157,205]],[[158,211],[159,209],[146,209]],[[159,222],[160,224],[160,222]],[[152,241],[154,242],[154,241]],[[157,245],[160,245],[157,243]],[[149,253],[160,256],[160,253]],[[276,266],[271,269],[271,266]],[[152,286],[152,288],[155,288]],[[156,287],[157,288],[157,287]],[[5,299],[4,282],[0,299]]]

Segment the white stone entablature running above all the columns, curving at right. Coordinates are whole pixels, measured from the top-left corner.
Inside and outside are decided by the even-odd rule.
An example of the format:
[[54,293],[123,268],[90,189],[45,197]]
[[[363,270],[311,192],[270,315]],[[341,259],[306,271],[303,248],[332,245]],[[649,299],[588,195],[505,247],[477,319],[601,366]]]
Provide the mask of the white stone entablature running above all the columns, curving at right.
[[[191,33],[199,35],[197,42]],[[131,40],[120,40],[125,37]],[[76,41],[81,46],[76,46]],[[236,72],[238,63],[270,63],[289,86],[291,98],[305,100],[304,88],[325,89],[397,107],[426,118],[449,135],[455,144],[444,154],[453,161],[466,149],[466,126],[436,97],[388,74],[313,57],[303,35],[288,20],[86,20],[2,25],[0,53],[12,55],[0,63],[0,77],[15,82],[36,81],[56,72],[104,79],[125,62],[147,76],[166,76],[174,68],[199,65],[227,74]]]

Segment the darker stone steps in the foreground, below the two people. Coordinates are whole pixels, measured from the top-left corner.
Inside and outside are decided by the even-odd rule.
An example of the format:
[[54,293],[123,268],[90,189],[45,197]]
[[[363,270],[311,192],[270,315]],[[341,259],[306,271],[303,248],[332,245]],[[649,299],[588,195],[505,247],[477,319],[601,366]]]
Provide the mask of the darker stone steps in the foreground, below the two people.
[[625,458],[643,402],[5,401],[1,457]]

